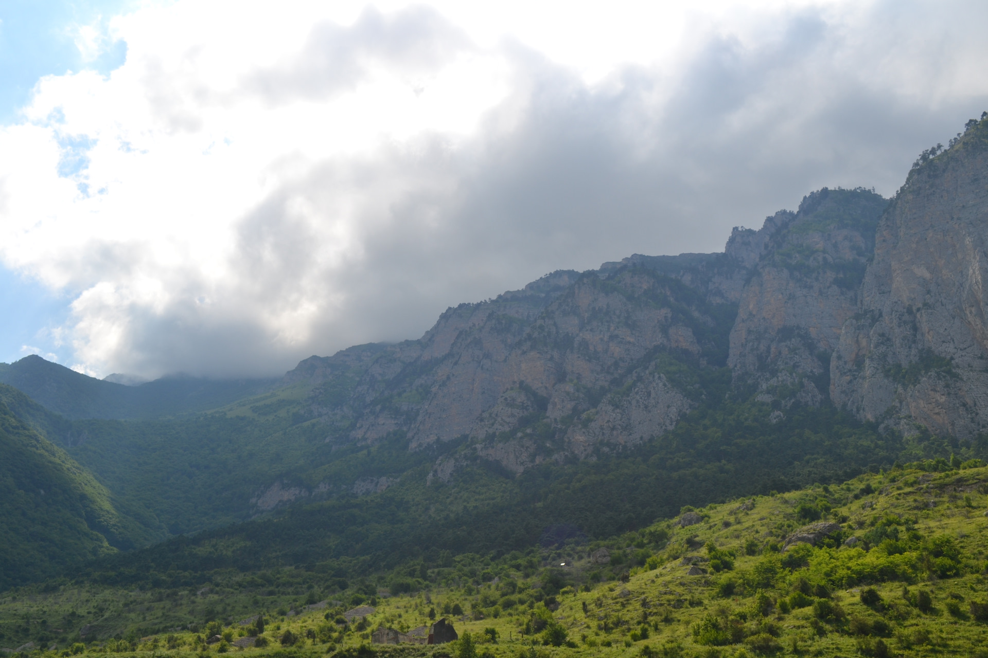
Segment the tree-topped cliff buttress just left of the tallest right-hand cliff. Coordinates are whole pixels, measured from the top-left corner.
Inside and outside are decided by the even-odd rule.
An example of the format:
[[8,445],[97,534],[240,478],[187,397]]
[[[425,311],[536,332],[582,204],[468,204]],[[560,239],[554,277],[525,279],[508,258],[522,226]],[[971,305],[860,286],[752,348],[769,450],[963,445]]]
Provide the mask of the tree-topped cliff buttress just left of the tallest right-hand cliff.
[[741,293],[730,334],[735,382],[759,399],[818,405],[829,396],[830,355],[857,311],[858,288],[887,201],[864,189],[823,189],[776,215]]

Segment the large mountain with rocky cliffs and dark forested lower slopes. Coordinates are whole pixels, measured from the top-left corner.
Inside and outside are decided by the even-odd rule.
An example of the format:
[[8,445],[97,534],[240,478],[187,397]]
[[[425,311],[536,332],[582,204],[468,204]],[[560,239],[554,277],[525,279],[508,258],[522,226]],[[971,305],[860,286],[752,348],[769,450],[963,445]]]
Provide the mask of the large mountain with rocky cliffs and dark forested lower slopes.
[[985,131],[924,154],[890,201],[823,188],[722,253],[556,271],[277,382],[122,386],[34,357],[2,376],[65,415],[10,408],[127,518],[186,536],[87,567],[141,586],[367,577],[897,461],[985,459]]

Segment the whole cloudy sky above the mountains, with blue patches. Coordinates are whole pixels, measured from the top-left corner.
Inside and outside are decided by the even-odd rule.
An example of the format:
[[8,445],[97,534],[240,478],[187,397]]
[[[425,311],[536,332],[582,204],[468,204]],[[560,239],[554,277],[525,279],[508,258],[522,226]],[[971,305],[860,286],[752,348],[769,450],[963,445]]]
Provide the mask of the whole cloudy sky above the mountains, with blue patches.
[[983,2],[0,0],[0,361],[268,376],[988,110]]

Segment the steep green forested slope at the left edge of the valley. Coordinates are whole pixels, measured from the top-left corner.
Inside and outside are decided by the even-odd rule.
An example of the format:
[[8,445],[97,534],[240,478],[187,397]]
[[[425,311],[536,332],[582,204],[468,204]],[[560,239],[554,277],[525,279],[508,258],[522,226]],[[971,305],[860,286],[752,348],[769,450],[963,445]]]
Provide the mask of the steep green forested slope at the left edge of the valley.
[[[0,385],[0,400],[37,412]],[[161,538],[128,518],[114,496],[10,406],[0,402],[0,587],[60,575],[120,549]]]

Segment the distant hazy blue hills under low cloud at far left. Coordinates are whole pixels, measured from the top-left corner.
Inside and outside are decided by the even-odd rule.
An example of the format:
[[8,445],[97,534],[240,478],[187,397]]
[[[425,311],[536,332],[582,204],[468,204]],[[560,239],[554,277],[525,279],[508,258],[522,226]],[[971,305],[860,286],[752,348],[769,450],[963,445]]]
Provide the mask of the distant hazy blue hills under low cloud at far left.
[[73,419],[156,418],[203,411],[256,395],[276,381],[175,376],[125,386],[77,373],[37,355],[0,363],[0,383]]

